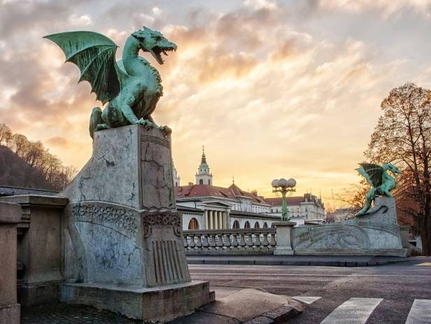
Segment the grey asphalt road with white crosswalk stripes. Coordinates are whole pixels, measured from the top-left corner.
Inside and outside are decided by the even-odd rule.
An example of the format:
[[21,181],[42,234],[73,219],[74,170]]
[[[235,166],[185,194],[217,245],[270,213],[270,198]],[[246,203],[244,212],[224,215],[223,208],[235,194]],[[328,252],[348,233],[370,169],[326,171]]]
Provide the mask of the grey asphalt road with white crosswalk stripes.
[[189,267],[192,279],[215,288],[257,288],[308,302],[289,323],[431,323],[431,258],[377,267]]

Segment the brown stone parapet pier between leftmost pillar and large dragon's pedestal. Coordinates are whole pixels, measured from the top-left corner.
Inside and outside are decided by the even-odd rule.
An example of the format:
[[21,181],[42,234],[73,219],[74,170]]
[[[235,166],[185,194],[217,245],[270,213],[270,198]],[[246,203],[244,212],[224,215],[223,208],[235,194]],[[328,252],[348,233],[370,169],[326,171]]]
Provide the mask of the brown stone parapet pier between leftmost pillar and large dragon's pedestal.
[[67,199],[41,195],[1,197],[19,204],[17,259],[24,274],[18,283],[18,301],[24,306],[59,299],[62,277],[61,216]]

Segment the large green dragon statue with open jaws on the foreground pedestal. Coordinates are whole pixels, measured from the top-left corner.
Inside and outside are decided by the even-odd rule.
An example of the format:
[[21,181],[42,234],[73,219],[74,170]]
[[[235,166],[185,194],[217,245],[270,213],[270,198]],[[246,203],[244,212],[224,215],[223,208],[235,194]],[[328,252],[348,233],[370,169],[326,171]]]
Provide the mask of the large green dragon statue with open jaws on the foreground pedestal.
[[162,53],[176,50],[176,45],[159,31],[147,27],[132,33],[122,50],[122,60],[115,62],[118,46],[110,38],[93,31],[68,31],[45,36],[62,49],[66,62],[80,69],[80,79],[87,80],[104,110],[94,107],[90,117],[90,136],[101,129],[141,124],[157,127],[165,135],[167,126],[155,124],[151,113],[163,95],[162,79],[155,67],[139,56],[150,52],[163,64]]

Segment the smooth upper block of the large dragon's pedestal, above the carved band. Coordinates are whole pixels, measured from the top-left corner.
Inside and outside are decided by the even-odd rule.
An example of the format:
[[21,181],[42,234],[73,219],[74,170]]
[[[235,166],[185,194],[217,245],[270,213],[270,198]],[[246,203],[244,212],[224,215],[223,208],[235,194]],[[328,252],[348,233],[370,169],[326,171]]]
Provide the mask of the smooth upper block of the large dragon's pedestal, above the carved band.
[[134,209],[176,210],[171,138],[130,125],[94,133],[93,153],[59,195],[70,202],[111,202]]

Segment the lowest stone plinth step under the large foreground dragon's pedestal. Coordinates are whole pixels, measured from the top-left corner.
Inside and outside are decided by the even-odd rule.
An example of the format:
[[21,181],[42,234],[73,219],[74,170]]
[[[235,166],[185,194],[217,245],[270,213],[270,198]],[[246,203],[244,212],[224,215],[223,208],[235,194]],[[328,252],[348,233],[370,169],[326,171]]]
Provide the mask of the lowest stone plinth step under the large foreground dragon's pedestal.
[[209,283],[192,281],[157,288],[65,283],[62,301],[108,309],[143,321],[168,321],[213,302]]

